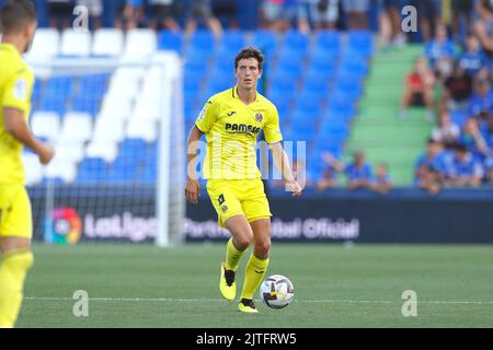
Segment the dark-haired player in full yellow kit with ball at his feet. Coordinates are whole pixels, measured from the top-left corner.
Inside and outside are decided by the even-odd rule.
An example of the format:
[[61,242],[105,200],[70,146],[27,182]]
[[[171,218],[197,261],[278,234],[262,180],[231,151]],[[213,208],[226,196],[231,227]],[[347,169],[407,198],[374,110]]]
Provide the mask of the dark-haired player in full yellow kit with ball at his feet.
[[255,154],[261,130],[264,131],[274,164],[283,175],[286,188],[294,196],[301,195],[301,186],[294,178],[280,143],[283,136],[277,108],[256,92],[263,61],[262,52],[255,48],[245,48],[237,55],[237,85],[207,101],[187,140],[185,196],[191,203],[198,202],[195,165],[198,141],[205,133],[207,152],[203,168],[207,191],[218,213],[219,225],[231,233],[219,282],[220,292],[227,300],[236,298],[238,264],[253,243],[238,304],[239,310],[245,313],[257,312],[253,295],[267,270],[271,250],[272,214]]

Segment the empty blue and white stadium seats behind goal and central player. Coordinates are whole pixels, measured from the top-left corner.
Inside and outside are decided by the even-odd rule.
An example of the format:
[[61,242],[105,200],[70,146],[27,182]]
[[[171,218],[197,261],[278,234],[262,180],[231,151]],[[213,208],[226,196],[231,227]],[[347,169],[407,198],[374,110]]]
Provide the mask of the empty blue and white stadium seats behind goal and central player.
[[[206,98],[233,85],[234,56],[248,45],[265,52],[261,92],[277,105],[285,139],[308,140],[308,171],[317,178],[323,171],[321,153],[341,155],[349,136],[374,54],[370,32],[321,31],[307,36],[294,30],[285,34],[227,31],[217,40],[210,32],[198,31],[185,40],[181,33],[150,30],[124,35],[118,30],[60,34],[41,28],[27,59],[122,55],[125,60],[156,50],[176,50],[184,57],[188,130]],[[26,151],[28,185],[47,178],[77,184],[154,183],[157,83],[152,71],[131,67],[119,67],[112,74],[38,80],[32,126],[60,151],[45,170],[35,165],[34,155]],[[372,86],[385,91],[385,85]],[[367,104],[370,102],[367,98]],[[362,118],[363,125],[366,119]]]

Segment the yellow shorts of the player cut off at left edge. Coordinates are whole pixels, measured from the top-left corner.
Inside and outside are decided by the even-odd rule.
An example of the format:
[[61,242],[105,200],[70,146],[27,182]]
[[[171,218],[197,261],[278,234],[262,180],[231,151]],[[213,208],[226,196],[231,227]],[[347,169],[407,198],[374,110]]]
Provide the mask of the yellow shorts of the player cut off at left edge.
[[0,237],[33,235],[31,201],[23,185],[0,184]]

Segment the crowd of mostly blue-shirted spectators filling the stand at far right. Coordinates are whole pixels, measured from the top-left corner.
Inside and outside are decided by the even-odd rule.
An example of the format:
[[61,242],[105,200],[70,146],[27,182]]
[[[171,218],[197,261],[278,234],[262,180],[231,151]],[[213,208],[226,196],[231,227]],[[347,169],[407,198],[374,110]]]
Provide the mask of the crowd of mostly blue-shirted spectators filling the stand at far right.
[[415,185],[429,194],[493,184],[493,3],[454,3],[454,21],[436,25],[406,78],[401,102],[402,118],[410,105],[422,105],[426,118],[436,119],[415,165]]

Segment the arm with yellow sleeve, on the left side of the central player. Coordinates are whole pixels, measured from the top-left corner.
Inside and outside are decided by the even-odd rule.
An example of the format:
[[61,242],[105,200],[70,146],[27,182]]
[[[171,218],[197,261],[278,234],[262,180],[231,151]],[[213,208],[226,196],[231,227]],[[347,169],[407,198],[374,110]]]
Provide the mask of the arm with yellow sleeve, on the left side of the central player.
[[209,132],[217,119],[217,103],[207,101],[204,108],[188,133],[186,141],[186,200],[192,205],[198,203],[197,151],[198,142],[204,133]]

